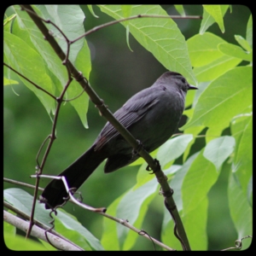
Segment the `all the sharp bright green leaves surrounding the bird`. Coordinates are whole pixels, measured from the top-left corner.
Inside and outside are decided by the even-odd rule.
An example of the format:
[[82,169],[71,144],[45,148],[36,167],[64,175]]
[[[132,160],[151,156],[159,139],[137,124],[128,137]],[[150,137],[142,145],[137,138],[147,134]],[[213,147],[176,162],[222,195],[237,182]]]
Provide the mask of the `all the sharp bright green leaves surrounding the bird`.
[[[4,20],[4,62],[50,94],[58,96],[67,83],[65,67],[26,12],[17,6],[12,8],[15,15],[9,15]],[[40,5],[33,8],[39,16],[52,20],[70,40],[79,38],[84,33],[85,16],[79,6]],[[92,14],[88,19],[95,19],[102,13],[113,20],[143,14],[167,15],[159,5],[98,5],[97,8],[90,5],[88,8]],[[246,38],[233,35],[236,45],[207,32],[214,22],[222,32],[225,31],[224,15],[228,8],[227,5],[203,5],[200,33],[187,40],[172,19],[148,17],[122,22],[126,35],[130,33],[163,67],[182,73],[190,83],[198,84],[199,87],[198,91],[189,92],[187,96],[184,114],[189,121],[180,129],[184,134],[172,138],[152,153],[160,160],[175,191],[174,199],[192,250],[207,250],[208,195],[223,172],[229,173],[225,186],[229,214],[236,228],[237,238],[252,235],[252,15],[247,22]],[[176,5],[176,9],[184,15],[186,7]],[[48,26],[61,49],[66,52],[66,41],[61,33],[54,26]],[[128,36],[126,39],[129,48],[133,49]],[[88,42],[90,41],[87,38],[76,41],[72,44],[69,55],[70,61],[87,79],[90,78],[92,70]],[[49,118],[53,119],[56,110],[54,99],[26,79],[19,79],[38,97]],[[19,83],[19,79],[9,68],[4,67],[4,89]],[[91,81],[90,83],[94,86]],[[74,98],[81,91],[79,83],[73,81],[65,98]],[[89,97],[83,93],[67,104],[69,103],[87,128]],[[205,136],[205,145],[195,151],[193,147],[197,146],[201,136]],[[183,158],[183,162],[175,162],[178,158]],[[143,229],[143,221],[147,218],[149,207],[156,200],[160,188],[154,175],[145,172],[146,165],[143,160],[137,160],[133,166],[138,169],[136,183],[112,202],[108,207],[108,214],[128,219],[129,224]],[[4,170],[4,173],[8,172]],[[93,189],[100,189],[100,185]],[[4,199],[29,214],[32,199],[25,191],[6,189]],[[40,211],[37,210],[38,207]],[[46,224],[44,218],[49,217],[41,216],[44,215],[44,207],[37,208],[36,218]],[[180,250],[179,241],[173,235],[172,218],[166,210],[163,210],[163,215],[161,241]],[[62,210],[55,225],[63,236],[67,236],[85,250],[132,250],[138,239],[137,233],[104,218],[100,242],[77,219]],[[13,239],[14,232],[10,235],[10,229],[7,228],[4,232],[6,245],[15,249],[8,242]],[[219,234],[218,239],[222,239],[221,236],[224,234]],[[232,243],[234,241],[230,241],[230,245]],[[250,241],[244,241],[243,249],[249,244]],[[21,245],[17,249],[22,249]],[[26,243],[23,249],[27,249]]]

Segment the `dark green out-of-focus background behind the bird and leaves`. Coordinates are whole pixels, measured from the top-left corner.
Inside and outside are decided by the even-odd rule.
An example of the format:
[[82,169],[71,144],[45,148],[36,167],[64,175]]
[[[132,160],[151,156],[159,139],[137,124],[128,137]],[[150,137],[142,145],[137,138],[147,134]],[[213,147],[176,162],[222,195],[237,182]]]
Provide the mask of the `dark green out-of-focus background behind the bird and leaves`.
[[[94,6],[99,19],[93,17],[86,6],[81,6],[85,13],[84,26],[90,28],[112,20]],[[169,15],[177,15],[172,5],[162,5]],[[201,5],[184,5],[187,15],[202,15]],[[217,34],[231,44],[236,44],[234,35],[246,37],[247,20],[250,9],[243,5],[232,5],[232,13],[224,16],[224,34],[216,24],[208,31]],[[175,20],[186,39],[199,32],[201,20]],[[154,83],[160,74],[166,72],[165,67],[154,59],[146,49],[130,35],[130,49],[125,40],[124,26],[117,24],[108,26],[87,38],[91,50],[92,71],[90,84],[99,96],[114,112],[137,91]],[[38,74],[39,75],[39,74]],[[34,174],[38,148],[51,131],[51,121],[44,107],[23,84],[5,86],[3,95],[3,176],[25,183],[35,183],[30,178]],[[14,92],[15,91],[15,92]],[[18,94],[19,96],[17,96]],[[95,106],[90,102],[88,112],[89,129],[84,129],[79,116],[70,106],[62,105],[57,123],[57,139],[51,148],[49,158],[44,167],[44,174],[57,175],[73,160],[76,160],[94,142],[96,136],[106,123]],[[181,125],[180,125],[181,126]],[[203,144],[198,143],[200,146]],[[45,149],[45,147],[44,147]],[[200,148],[193,148],[195,151]],[[41,158],[42,159],[41,154]],[[230,218],[223,218],[229,212],[225,181],[230,169],[224,169],[218,183],[209,193],[209,249],[219,250],[234,245],[236,230]],[[118,172],[108,175],[103,173],[103,165],[99,166],[89,180],[79,189],[84,202],[92,207],[108,207],[114,199],[122,195],[136,183],[137,166],[126,166]],[[145,172],[145,175],[148,175]],[[48,180],[41,179],[40,187]],[[4,189],[13,187],[4,183]],[[31,189],[26,189],[32,194]],[[163,199],[157,196],[149,206],[143,223],[143,230],[150,236],[160,239]],[[65,209],[79,218],[79,221],[96,237],[101,238],[102,216],[67,204]],[[228,215],[229,217],[229,215]],[[221,236],[219,236],[221,235]],[[221,238],[220,238],[221,237]],[[200,238],[199,238],[200,239]],[[134,249],[154,249],[150,241],[138,238]]]

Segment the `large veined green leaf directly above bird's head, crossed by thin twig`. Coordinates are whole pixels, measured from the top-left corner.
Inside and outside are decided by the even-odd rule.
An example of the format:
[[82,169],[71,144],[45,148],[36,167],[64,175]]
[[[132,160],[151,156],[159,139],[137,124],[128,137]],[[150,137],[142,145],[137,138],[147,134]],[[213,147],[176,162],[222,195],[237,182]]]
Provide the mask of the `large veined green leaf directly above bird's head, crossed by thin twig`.
[[[99,5],[115,20],[124,18],[118,5]],[[132,5],[131,15],[167,15],[159,5]],[[125,26],[125,24],[123,24]],[[168,70],[182,73],[192,84],[196,79],[189,61],[187,44],[177,24],[171,19],[140,18],[130,20],[130,32]]]

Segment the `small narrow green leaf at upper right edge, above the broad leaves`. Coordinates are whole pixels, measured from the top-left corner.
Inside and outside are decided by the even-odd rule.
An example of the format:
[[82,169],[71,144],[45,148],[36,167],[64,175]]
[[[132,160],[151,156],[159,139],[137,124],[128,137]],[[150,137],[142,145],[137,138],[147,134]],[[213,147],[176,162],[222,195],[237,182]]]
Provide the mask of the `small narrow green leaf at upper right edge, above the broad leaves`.
[[229,55],[243,61],[253,61],[253,53],[246,52],[241,47],[235,44],[222,43],[218,44],[218,49],[224,53],[224,55]]

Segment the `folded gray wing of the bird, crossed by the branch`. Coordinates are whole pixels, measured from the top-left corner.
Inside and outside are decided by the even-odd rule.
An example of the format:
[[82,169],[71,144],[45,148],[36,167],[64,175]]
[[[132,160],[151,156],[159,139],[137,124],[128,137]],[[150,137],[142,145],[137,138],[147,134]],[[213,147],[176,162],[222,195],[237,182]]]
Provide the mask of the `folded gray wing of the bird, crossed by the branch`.
[[[159,89],[149,87],[140,91],[135,96],[132,96],[122,108],[119,108],[113,116],[118,119],[125,128],[135,124],[139,119],[143,118],[149,108],[152,108],[159,102],[159,94],[161,93]],[[118,135],[119,131],[108,122],[103,127],[100,136],[96,139],[95,150],[102,148],[110,139]]]

